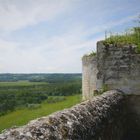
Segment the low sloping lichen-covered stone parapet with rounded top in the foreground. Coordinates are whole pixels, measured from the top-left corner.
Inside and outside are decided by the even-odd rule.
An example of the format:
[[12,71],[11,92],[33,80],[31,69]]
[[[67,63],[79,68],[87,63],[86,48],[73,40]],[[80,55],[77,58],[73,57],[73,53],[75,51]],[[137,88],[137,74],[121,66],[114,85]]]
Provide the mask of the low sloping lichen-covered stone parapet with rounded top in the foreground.
[[125,96],[117,90],[108,91],[26,126],[7,130],[0,140],[121,140],[127,130],[124,107]]

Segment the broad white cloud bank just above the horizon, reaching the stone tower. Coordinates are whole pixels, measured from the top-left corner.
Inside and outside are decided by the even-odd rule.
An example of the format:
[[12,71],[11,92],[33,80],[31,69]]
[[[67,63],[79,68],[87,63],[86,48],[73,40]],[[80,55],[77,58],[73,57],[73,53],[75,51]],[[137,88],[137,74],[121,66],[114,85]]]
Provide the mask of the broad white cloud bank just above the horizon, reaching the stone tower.
[[95,50],[96,40],[83,40],[81,31],[44,40],[40,47],[0,40],[0,72],[80,72],[83,54]]

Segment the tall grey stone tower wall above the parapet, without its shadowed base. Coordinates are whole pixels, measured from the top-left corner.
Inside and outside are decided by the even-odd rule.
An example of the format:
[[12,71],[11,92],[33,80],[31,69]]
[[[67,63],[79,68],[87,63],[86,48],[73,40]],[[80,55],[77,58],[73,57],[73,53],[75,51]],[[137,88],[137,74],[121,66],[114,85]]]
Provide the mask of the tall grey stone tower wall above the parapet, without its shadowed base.
[[105,46],[97,43],[97,55],[83,57],[83,99],[95,90],[120,89],[126,94],[140,94],[140,54],[135,46]]

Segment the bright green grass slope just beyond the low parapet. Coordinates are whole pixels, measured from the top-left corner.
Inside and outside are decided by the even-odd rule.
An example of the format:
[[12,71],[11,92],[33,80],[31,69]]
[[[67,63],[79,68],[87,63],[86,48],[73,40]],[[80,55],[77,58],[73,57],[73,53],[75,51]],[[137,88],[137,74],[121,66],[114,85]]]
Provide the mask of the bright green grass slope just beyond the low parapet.
[[58,110],[69,108],[81,101],[81,95],[67,96],[66,100],[57,103],[43,102],[37,109],[20,109],[0,117],[0,132],[12,126],[27,124],[30,120],[49,115]]

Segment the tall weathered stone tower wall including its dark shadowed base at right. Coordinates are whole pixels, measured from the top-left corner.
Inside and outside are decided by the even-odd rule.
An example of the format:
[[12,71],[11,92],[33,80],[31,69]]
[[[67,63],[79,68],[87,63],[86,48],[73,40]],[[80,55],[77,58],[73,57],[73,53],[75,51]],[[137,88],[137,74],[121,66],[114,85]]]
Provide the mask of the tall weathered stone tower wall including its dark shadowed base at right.
[[104,45],[100,41],[96,56],[83,57],[83,99],[91,99],[94,91],[102,92],[104,87],[125,94],[127,131],[123,140],[139,140],[140,54],[136,46]]

